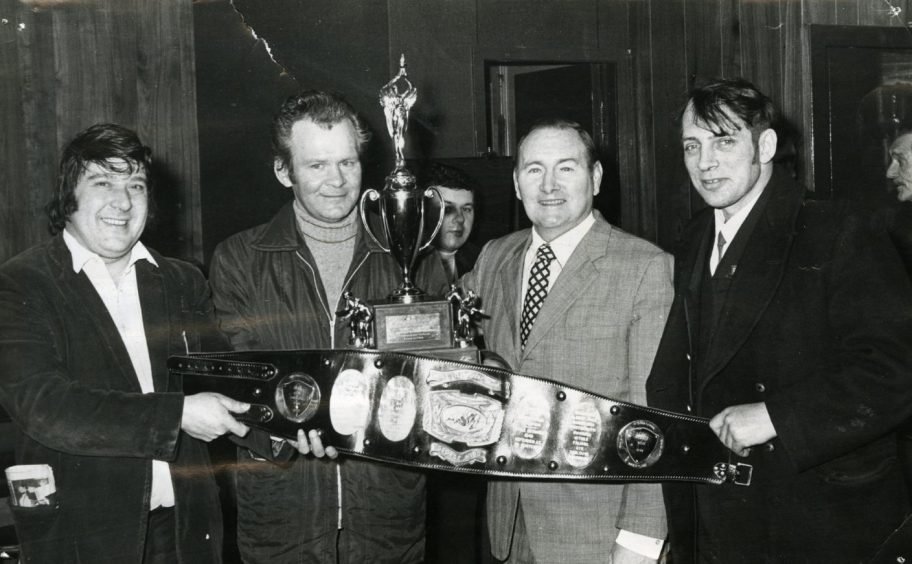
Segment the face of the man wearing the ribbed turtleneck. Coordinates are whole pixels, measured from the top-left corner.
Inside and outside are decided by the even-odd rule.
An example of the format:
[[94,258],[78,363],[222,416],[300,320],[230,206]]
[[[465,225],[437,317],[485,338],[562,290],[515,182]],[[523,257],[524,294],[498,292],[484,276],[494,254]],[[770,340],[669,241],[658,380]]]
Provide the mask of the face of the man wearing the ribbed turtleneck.
[[361,191],[361,160],[355,128],[343,120],[326,128],[296,122],[289,139],[291,167],[275,163],[275,175],[294,190],[307,213],[326,223],[348,217]]

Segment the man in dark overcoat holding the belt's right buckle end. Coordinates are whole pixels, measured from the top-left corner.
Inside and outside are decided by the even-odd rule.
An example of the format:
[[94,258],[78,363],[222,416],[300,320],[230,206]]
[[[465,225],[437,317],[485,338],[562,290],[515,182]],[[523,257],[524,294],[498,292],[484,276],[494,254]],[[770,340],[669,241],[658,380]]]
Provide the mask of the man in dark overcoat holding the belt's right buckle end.
[[885,233],[772,165],[772,102],[694,90],[684,163],[709,208],[676,253],[650,405],[711,417],[753,483],[664,486],[687,562],[858,562],[909,509],[893,430],[912,413],[912,289]]

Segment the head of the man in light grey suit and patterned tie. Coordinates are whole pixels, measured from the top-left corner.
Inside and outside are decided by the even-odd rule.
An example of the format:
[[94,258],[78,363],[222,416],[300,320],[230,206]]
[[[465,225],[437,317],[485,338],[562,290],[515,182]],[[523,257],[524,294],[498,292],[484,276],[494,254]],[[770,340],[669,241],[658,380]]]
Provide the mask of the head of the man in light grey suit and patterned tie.
[[536,231],[552,241],[580,224],[592,211],[602,182],[602,165],[588,166],[586,146],[572,129],[545,127],[519,147],[513,172],[516,197]]

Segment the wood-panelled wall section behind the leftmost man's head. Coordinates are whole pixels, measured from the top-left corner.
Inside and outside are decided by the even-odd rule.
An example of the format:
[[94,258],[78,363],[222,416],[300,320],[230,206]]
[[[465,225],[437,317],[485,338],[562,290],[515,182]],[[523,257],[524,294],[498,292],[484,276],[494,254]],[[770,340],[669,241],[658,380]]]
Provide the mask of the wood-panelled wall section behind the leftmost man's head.
[[190,0],[0,0],[0,262],[47,238],[60,148],[97,122],[152,147],[145,239],[202,257],[192,17]]

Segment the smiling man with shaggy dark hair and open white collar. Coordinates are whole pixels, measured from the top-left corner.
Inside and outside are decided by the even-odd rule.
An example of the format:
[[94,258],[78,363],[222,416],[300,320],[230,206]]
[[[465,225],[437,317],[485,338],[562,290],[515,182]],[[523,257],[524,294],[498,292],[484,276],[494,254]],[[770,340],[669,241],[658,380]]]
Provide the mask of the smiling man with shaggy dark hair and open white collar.
[[47,464],[56,505],[14,507],[24,562],[221,561],[203,441],[247,427],[247,404],[185,396],[166,360],[218,346],[193,266],[139,242],[150,151],[104,124],[63,151],[55,236],[0,267],[0,404],[16,463]]

